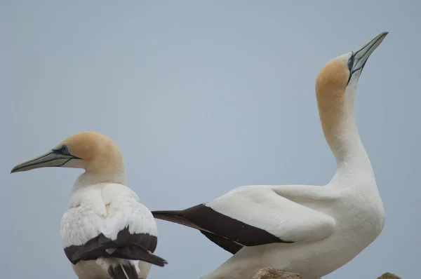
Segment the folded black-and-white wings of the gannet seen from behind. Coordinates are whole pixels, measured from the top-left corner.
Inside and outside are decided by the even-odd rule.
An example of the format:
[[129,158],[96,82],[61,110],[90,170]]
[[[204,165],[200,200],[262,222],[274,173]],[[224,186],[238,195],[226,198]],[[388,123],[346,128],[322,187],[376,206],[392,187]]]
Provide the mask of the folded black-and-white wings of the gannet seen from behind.
[[106,205],[106,213],[103,207],[79,205],[63,215],[62,244],[72,264],[98,257],[147,261],[158,266],[166,264],[164,259],[152,254],[157,243],[156,223],[135,193],[119,193],[118,198]]

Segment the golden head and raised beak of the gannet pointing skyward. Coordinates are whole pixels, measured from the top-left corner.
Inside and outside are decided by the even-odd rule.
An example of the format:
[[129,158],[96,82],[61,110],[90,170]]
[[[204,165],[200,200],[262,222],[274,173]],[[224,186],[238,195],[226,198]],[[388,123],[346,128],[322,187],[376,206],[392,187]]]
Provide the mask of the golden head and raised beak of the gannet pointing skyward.
[[354,108],[354,93],[368,57],[387,36],[382,32],[361,48],[330,60],[316,77],[317,106],[323,132],[329,145],[338,128]]

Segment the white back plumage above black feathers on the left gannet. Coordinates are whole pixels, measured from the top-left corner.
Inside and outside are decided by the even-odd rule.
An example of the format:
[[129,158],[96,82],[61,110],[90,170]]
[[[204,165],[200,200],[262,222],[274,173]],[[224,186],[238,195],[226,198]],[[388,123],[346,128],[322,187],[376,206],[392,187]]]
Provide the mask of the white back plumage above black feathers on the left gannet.
[[75,189],[69,209],[62,217],[60,236],[63,247],[81,245],[103,233],[115,240],[129,227],[130,233],[157,236],[152,213],[127,186],[100,183]]

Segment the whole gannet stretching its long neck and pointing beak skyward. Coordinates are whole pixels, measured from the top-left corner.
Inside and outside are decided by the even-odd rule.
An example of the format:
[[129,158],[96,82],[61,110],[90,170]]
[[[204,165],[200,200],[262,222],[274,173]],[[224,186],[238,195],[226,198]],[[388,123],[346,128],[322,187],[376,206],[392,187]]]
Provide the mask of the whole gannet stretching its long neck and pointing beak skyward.
[[316,78],[321,126],[337,161],[327,185],[241,186],[185,210],[152,211],[157,219],[198,229],[234,254],[202,278],[252,278],[268,266],[320,278],[379,236],[385,211],[356,128],[354,93],[385,36],[330,60]]

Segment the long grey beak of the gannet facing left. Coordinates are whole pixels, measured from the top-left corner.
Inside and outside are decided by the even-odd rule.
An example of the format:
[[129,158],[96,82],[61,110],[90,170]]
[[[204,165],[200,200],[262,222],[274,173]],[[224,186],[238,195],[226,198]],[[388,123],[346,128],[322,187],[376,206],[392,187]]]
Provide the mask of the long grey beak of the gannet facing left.
[[11,173],[25,172],[26,170],[33,170],[34,168],[61,167],[74,158],[77,157],[60,154],[58,151],[51,150],[33,158],[32,160],[16,165],[15,168],[12,169]]

